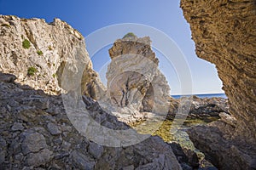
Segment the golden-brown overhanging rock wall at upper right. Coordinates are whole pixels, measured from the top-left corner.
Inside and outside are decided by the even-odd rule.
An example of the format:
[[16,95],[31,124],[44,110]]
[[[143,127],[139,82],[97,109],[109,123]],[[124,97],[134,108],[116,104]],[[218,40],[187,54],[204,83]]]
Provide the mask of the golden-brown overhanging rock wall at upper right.
[[196,54],[216,65],[236,135],[256,139],[256,5],[255,1],[181,1]]

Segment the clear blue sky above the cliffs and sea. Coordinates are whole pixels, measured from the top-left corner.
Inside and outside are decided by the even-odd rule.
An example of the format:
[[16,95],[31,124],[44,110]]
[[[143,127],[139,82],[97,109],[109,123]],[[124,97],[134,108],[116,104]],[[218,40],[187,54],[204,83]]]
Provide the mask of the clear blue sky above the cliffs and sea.
[[[137,23],[153,26],[171,37],[182,50],[189,63],[193,94],[224,93],[215,66],[197,58],[195,54],[195,43],[191,40],[189,24],[179,8],[179,0],[0,0],[0,14],[12,14],[20,18],[43,18],[47,22],[60,18],[80,31],[84,37],[114,24]],[[92,59],[96,71],[102,71],[101,60],[109,60],[108,48],[102,48],[98,53],[102,59]],[[168,65],[165,65],[161,57],[160,69],[171,85],[171,94],[179,94],[177,82],[172,81],[173,75],[168,73]]]

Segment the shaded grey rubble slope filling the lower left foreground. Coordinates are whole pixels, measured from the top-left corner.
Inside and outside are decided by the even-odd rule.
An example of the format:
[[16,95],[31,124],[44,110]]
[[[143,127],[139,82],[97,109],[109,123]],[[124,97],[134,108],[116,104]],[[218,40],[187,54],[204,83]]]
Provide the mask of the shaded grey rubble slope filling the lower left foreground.
[[[90,141],[67,118],[61,96],[4,81],[2,77],[8,76],[13,77],[0,73],[1,169],[181,169],[171,146],[159,137],[116,148]],[[129,128],[93,99],[86,101],[96,122],[113,129]]]

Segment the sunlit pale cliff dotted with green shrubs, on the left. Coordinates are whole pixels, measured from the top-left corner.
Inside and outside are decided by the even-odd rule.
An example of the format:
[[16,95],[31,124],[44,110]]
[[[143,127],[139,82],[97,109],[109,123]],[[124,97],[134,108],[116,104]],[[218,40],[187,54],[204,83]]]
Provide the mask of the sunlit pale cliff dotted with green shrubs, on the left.
[[[75,88],[79,81],[82,93],[92,98],[103,88],[92,70],[84,37],[66,22],[55,19],[48,24],[40,19],[0,15],[0,29],[0,71],[14,74],[18,82],[58,94],[62,79],[69,88]],[[65,65],[69,77],[62,78]],[[79,74],[78,65],[84,70],[82,81],[67,80]]]

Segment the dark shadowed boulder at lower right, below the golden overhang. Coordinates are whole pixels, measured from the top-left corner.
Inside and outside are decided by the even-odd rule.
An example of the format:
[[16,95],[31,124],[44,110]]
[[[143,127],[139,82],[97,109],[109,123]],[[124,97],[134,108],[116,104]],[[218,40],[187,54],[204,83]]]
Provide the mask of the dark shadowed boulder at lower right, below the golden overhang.
[[[202,150],[206,159],[220,169],[253,169],[256,150],[244,140],[231,139],[235,128],[225,122],[192,127],[189,139]],[[236,158],[236,161],[234,161]]]

